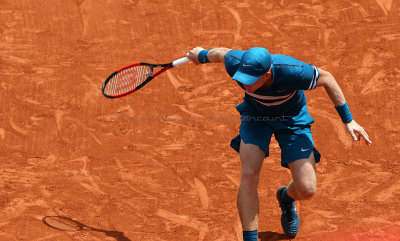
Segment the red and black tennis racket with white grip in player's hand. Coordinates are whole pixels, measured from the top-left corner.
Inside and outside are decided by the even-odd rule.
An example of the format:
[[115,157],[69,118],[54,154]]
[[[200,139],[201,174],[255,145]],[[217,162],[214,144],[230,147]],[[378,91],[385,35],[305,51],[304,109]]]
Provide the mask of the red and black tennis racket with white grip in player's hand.
[[[101,91],[108,98],[122,97],[137,91],[159,74],[175,66],[185,64],[190,60],[187,57],[177,59],[168,64],[134,63],[112,73],[104,81]],[[157,72],[155,68],[161,68]]]

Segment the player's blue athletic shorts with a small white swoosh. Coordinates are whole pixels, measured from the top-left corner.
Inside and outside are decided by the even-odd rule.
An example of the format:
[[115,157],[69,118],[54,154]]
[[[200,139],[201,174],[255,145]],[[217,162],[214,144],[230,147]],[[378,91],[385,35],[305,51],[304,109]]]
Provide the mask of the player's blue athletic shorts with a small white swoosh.
[[269,144],[272,134],[281,148],[281,165],[288,168],[288,163],[308,158],[314,153],[315,162],[321,159],[321,154],[314,147],[311,136],[311,124],[293,125],[284,120],[253,117],[241,112],[240,134],[232,139],[231,147],[239,152],[240,141],[259,146],[269,156]]

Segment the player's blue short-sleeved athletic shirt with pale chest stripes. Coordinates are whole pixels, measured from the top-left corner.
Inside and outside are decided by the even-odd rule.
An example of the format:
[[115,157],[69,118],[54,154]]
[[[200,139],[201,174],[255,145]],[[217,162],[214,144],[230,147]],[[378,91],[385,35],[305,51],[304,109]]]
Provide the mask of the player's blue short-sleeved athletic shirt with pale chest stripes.
[[[232,77],[239,68],[245,51],[231,50],[225,56],[226,72]],[[278,118],[293,125],[308,125],[314,122],[306,106],[304,90],[317,86],[319,71],[310,64],[290,56],[272,54],[273,83],[268,89],[245,92],[239,112],[246,110],[252,116]],[[236,81],[242,89],[243,84]]]

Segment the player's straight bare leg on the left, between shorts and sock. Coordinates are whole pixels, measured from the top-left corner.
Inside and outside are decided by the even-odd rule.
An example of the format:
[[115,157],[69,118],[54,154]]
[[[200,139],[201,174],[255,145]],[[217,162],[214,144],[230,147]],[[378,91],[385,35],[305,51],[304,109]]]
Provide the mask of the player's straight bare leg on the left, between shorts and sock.
[[240,143],[242,171],[237,206],[243,231],[258,229],[258,181],[265,152],[253,144]]

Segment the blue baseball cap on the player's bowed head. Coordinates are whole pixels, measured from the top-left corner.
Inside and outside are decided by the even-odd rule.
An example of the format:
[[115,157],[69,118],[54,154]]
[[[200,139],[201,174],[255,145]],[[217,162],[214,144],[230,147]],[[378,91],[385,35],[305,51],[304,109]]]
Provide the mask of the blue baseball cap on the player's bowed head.
[[265,48],[254,47],[247,50],[232,79],[245,85],[254,84],[271,68],[271,54]]

